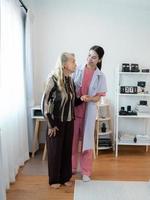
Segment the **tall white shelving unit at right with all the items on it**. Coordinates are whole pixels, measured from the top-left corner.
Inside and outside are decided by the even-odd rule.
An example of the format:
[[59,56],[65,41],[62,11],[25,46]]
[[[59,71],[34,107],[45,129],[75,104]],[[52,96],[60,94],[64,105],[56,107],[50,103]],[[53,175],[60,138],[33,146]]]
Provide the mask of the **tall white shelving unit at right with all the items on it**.
[[150,70],[118,70],[116,157],[119,145],[150,145]]

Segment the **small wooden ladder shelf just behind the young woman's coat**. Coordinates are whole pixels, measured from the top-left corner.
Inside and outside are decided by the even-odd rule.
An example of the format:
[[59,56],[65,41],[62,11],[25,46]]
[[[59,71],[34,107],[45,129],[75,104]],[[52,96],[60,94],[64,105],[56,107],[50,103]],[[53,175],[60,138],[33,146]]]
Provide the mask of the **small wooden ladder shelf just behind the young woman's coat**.
[[[96,155],[99,150],[112,148],[112,118],[109,103],[97,104],[96,118]],[[105,124],[105,130],[102,131],[102,124]]]

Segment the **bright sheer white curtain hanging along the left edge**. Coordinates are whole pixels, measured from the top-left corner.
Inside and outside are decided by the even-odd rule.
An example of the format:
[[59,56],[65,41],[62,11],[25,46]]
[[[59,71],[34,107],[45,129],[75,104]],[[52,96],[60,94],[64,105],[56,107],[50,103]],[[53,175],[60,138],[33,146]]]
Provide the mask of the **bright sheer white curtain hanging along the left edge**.
[[[24,81],[24,14],[18,0],[1,0],[1,187],[15,181],[29,159]],[[5,198],[5,197],[3,197]]]

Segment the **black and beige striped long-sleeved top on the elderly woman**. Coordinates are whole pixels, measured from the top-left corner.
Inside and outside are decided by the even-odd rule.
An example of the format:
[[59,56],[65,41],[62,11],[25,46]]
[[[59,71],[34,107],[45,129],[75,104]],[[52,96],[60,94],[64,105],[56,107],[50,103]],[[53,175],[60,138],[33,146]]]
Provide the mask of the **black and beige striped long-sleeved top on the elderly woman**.
[[47,83],[41,101],[41,109],[49,127],[56,126],[56,121],[72,121],[75,117],[74,106],[82,103],[76,96],[75,84],[71,77],[64,78],[64,89],[60,91],[57,79],[52,75]]

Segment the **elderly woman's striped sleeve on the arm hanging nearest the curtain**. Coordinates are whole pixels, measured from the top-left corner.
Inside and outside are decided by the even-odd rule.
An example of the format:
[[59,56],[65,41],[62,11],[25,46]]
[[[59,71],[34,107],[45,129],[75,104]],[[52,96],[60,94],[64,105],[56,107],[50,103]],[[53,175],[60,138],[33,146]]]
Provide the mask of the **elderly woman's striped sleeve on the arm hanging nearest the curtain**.
[[41,110],[42,110],[42,113],[43,113],[45,119],[47,119],[47,121],[48,121],[48,127],[55,126],[54,119],[52,117],[52,113],[50,112],[50,107],[52,106],[50,97],[52,95],[54,86],[55,86],[54,80],[52,77],[50,77],[47,82],[46,88],[45,88],[43,96],[42,96],[42,101],[41,101]]

